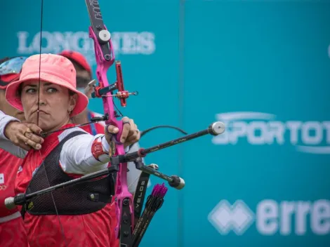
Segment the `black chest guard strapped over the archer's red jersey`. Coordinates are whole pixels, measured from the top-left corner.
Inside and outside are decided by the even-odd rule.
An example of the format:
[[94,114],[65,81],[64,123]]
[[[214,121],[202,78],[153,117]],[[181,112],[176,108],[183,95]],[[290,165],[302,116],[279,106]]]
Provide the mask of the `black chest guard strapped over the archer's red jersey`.
[[[67,140],[82,134],[86,133],[81,131],[70,133],[46,156],[44,166],[42,164],[39,166],[29,182],[27,194],[73,179],[60,167],[60,152]],[[112,175],[107,175],[36,196],[23,208],[32,215],[82,215],[104,208],[111,202],[112,195],[114,195],[114,179]]]

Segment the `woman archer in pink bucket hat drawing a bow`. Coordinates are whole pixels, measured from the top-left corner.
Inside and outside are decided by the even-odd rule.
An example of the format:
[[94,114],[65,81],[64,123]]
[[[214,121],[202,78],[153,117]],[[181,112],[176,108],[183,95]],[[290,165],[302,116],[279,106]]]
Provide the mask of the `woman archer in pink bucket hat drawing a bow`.
[[[76,89],[70,60],[53,54],[27,58],[20,79],[7,87],[6,100],[24,111],[29,122],[20,123],[0,112],[0,148],[24,158],[15,181],[16,194],[107,168],[110,138],[119,130],[106,126],[104,135],[93,136],[70,122],[88,104],[86,95]],[[132,119],[124,117],[122,121],[120,141],[128,147],[140,139],[140,133]],[[45,138],[40,137],[41,131],[48,133]],[[111,178],[58,189],[23,206],[29,245],[112,247]]]

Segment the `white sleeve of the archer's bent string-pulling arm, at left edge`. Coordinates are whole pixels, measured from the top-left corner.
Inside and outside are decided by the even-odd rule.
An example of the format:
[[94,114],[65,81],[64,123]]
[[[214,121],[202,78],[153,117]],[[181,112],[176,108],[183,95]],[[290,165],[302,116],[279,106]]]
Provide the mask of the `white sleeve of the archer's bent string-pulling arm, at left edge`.
[[19,122],[19,120],[15,119],[13,116],[8,116],[4,114],[4,112],[0,111],[0,148],[17,156],[18,158],[24,158],[27,154],[27,151],[25,149],[22,149],[21,147],[14,145],[13,142],[11,142],[11,140],[8,140],[8,138],[6,138],[6,135],[4,134],[5,127],[10,121]]

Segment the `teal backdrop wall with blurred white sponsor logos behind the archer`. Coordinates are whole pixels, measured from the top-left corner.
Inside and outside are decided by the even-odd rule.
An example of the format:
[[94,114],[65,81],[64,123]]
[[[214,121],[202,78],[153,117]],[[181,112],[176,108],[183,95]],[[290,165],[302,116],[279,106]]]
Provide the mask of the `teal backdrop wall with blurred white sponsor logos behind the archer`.
[[[227,127],[145,158],[186,185],[169,189],[141,246],[329,246],[330,1],[99,4],[139,92],[124,115],[140,130]],[[1,58],[39,53],[41,1],[3,1],[0,18]],[[41,52],[79,51],[95,71],[89,25],[85,1],[45,0]],[[103,113],[100,100],[89,108]],[[140,145],[180,136],[159,129]]]

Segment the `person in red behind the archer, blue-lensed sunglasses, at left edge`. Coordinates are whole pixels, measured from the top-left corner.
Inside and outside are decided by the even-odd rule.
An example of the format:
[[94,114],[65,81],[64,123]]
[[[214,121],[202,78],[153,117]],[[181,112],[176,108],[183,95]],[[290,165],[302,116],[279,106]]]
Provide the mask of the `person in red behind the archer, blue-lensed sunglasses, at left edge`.
[[[20,70],[25,60],[25,57],[7,57],[0,60],[0,111],[20,121],[25,121],[24,113],[8,104],[5,93],[7,86],[20,78]],[[15,196],[15,178],[22,161],[0,149],[0,246],[29,246],[20,211],[18,208],[9,210],[4,204],[7,197]]]

